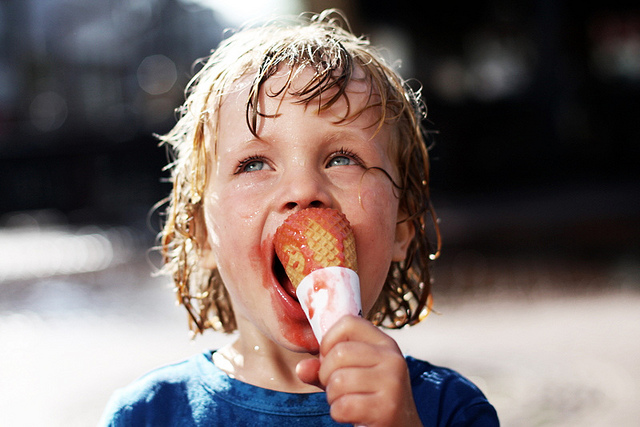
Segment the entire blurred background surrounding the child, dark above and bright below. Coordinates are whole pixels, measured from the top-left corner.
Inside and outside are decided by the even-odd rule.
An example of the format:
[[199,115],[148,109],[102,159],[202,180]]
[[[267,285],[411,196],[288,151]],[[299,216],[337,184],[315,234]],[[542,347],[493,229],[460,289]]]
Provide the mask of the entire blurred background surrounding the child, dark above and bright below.
[[[0,0],[0,413],[94,425],[194,342],[150,250],[154,133],[225,28],[342,9],[422,84],[444,250],[394,334],[506,426],[640,419],[640,7],[528,0]],[[418,83],[420,82],[420,83]]]

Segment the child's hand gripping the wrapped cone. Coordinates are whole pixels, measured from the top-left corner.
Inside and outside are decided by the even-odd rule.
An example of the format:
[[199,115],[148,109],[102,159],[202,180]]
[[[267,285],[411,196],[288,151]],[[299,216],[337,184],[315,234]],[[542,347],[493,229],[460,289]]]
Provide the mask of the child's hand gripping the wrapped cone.
[[298,364],[298,377],[325,389],[340,423],[420,426],[407,364],[396,342],[355,316],[340,319],[322,340],[320,361]]

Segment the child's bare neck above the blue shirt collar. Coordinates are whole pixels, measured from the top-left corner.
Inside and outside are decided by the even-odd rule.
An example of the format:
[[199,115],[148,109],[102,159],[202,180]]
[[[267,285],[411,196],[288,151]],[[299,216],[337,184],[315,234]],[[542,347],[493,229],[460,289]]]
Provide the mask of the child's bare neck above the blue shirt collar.
[[308,354],[285,350],[269,340],[256,344],[243,340],[222,347],[213,354],[213,363],[227,375],[247,384],[289,393],[320,391],[300,381],[296,375],[297,363]]

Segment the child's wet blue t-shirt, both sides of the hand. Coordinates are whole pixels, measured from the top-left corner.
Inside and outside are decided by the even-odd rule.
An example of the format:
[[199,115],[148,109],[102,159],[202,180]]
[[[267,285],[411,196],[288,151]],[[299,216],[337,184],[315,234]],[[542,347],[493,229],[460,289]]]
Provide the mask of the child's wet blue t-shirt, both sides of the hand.
[[[335,426],[325,393],[285,393],[230,378],[211,351],[116,391],[100,426]],[[498,426],[482,392],[451,369],[406,357],[425,426]]]

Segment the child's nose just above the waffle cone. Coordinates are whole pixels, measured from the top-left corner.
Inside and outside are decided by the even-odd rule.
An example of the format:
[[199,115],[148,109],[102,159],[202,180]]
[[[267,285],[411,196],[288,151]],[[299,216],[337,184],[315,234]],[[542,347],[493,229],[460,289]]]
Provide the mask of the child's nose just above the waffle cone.
[[308,169],[287,174],[281,193],[281,208],[294,211],[305,208],[331,206],[329,183],[321,174]]

